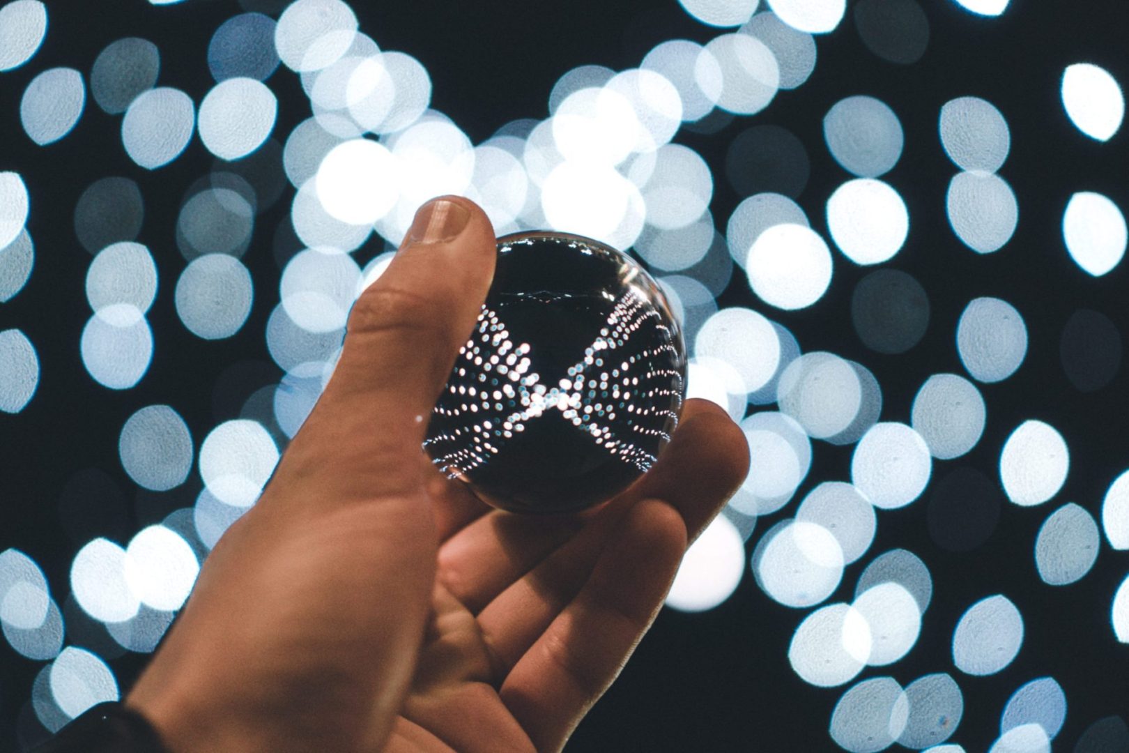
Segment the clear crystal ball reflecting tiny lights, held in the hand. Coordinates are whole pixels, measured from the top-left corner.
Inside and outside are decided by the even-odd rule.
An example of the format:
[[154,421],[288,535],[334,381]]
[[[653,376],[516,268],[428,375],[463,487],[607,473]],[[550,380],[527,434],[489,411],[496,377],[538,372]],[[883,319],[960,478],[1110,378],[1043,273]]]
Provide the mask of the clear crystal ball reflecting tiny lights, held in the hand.
[[579,510],[655,463],[685,375],[682,331],[630,256],[575,235],[508,235],[423,447],[495,507]]

